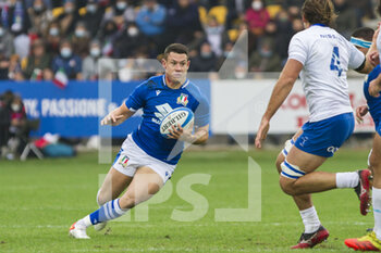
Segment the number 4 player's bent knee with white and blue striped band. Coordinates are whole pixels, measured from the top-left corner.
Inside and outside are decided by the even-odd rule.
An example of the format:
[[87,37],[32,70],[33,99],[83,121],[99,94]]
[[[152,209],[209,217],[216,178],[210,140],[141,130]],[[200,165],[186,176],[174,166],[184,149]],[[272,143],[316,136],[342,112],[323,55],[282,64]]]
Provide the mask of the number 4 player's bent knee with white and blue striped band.
[[280,186],[282,190],[290,195],[299,194],[295,182],[298,178],[306,175],[298,166],[290,164],[287,161],[281,163],[281,177],[280,177]]

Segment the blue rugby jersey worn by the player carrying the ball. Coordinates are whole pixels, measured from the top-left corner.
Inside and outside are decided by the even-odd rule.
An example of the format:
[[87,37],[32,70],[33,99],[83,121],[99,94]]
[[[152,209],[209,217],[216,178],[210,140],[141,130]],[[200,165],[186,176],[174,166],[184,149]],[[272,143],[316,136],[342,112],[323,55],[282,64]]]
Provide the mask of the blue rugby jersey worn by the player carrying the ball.
[[161,119],[172,110],[186,106],[195,114],[195,126],[209,124],[209,103],[188,79],[180,89],[171,89],[164,75],[151,77],[135,88],[125,105],[133,112],[143,109],[143,121],[132,134],[136,144],[147,154],[169,164],[177,164],[184,143],[176,144],[177,140],[161,136]]

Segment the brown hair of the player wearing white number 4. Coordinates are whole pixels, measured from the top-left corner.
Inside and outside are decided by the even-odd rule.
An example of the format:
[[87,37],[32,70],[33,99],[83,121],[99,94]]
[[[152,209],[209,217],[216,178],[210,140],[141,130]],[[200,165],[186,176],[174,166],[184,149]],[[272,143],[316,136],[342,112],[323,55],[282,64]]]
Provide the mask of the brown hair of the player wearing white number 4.
[[303,16],[310,24],[331,26],[336,18],[331,0],[306,0],[302,8]]

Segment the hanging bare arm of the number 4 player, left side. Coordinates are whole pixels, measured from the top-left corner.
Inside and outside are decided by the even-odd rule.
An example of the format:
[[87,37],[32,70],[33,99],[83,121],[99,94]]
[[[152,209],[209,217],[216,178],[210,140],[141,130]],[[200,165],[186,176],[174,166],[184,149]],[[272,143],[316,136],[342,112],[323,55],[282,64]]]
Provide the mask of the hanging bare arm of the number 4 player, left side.
[[267,132],[270,128],[271,117],[276,113],[279,107],[290,94],[302,68],[303,64],[297,60],[290,59],[286,62],[281,76],[278,79],[274,89],[272,90],[269,104],[260,122],[255,141],[257,148],[261,148],[261,141],[266,139]]

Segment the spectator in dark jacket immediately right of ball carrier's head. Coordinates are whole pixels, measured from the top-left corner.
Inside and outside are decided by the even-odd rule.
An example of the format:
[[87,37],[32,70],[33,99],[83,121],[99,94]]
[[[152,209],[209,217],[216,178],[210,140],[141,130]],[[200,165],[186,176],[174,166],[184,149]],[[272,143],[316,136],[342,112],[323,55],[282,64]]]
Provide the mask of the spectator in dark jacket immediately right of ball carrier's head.
[[209,42],[204,42],[197,56],[190,60],[190,72],[214,72],[217,56]]

